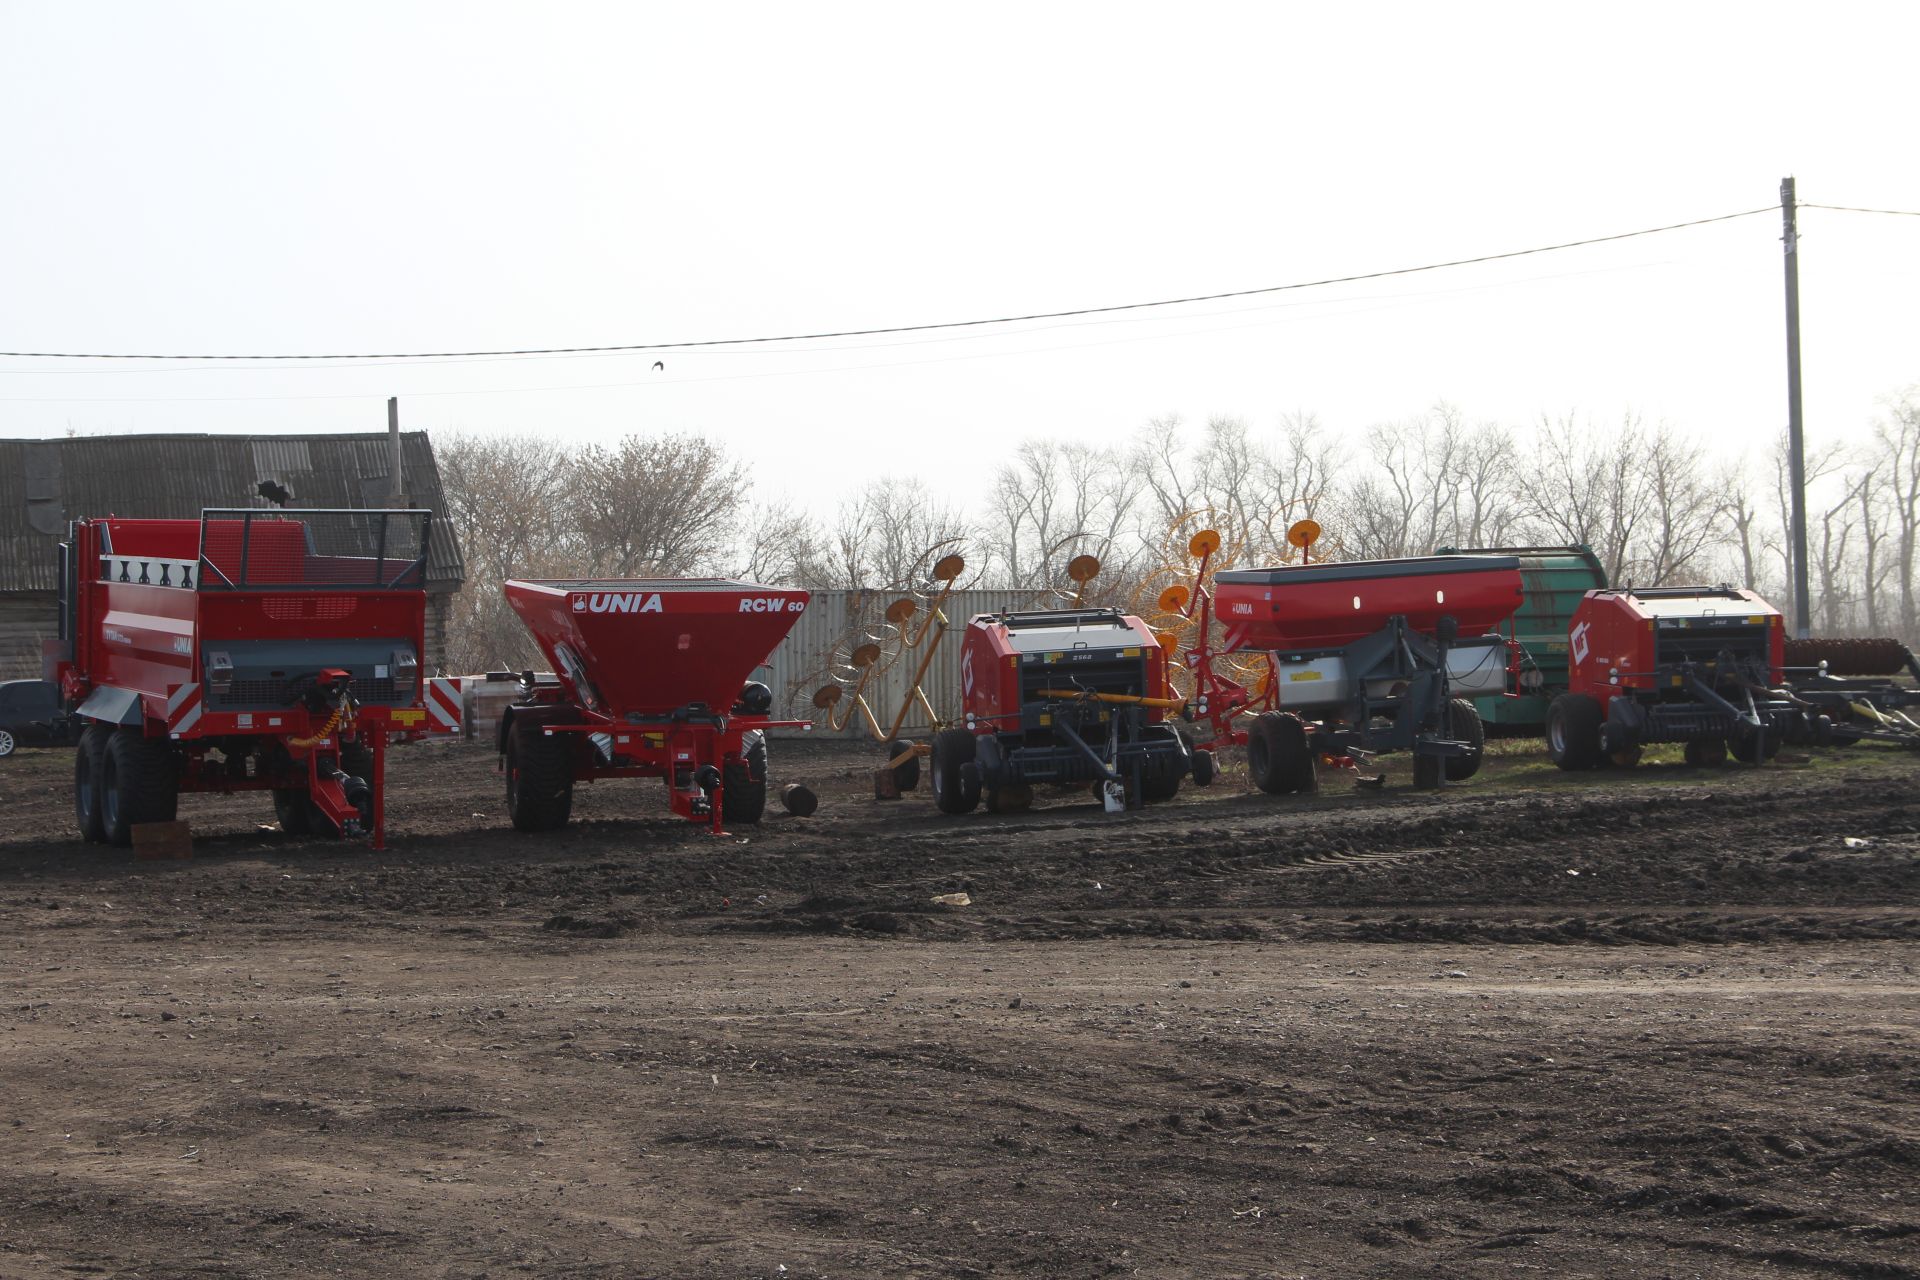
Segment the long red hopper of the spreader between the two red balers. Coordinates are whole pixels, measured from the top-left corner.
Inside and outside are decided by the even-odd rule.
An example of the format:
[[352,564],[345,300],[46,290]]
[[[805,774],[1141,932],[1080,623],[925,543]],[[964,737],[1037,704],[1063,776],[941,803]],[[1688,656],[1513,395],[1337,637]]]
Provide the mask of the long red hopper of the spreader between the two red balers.
[[1394,618],[1425,635],[1453,618],[1459,635],[1480,635],[1519,608],[1521,562],[1455,555],[1238,568],[1213,576],[1213,595],[1229,651],[1338,649]]

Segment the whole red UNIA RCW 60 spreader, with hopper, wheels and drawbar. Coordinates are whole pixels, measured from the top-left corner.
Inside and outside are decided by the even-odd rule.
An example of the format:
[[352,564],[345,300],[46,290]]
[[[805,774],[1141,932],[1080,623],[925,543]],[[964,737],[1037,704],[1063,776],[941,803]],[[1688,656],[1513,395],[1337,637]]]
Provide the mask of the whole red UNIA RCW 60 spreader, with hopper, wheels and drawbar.
[[[672,812],[722,835],[766,810],[772,691],[749,679],[808,593],[720,578],[507,583],[507,603],[553,666],[526,672],[501,714],[507,812],[520,831],[564,827],[574,783],[660,777]],[[781,793],[812,814],[812,793]]]

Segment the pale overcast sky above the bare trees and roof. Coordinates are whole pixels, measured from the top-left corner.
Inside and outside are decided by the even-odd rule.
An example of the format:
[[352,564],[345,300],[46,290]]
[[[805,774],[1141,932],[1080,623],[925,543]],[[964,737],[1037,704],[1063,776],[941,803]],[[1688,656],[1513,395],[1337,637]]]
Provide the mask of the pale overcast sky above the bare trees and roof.
[[[1914,4],[0,0],[0,349],[666,344],[1920,209]],[[1920,217],[1801,211],[1809,432],[1920,382]],[[655,361],[664,368],[655,370]],[[1786,422],[1780,217],[1371,284],[789,347],[0,359],[0,434],[697,432],[816,509],[1020,439],[1313,411]]]

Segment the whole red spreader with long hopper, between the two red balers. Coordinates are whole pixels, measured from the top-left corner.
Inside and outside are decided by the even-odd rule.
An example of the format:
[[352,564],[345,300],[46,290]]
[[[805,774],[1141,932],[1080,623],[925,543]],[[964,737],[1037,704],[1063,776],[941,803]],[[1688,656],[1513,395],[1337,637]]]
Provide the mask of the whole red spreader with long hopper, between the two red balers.
[[[1519,560],[1323,560],[1221,570],[1208,587],[1217,549],[1217,533],[1194,535],[1194,587],[1169,587],[1162,608],[1200,622],[1187,651],[1194,714],[1212,722],[1215,747],[1246,747],[1261,791],[1311,793],[1323,760],[1354,768],[1392,750],[1413,752],[1417,787],[1478,771],[1484,727],[1471,699],[1507,693],[1519,664],[1494,631],[1521,604]],[[1242,654],[1236,668],[1229,654]]]

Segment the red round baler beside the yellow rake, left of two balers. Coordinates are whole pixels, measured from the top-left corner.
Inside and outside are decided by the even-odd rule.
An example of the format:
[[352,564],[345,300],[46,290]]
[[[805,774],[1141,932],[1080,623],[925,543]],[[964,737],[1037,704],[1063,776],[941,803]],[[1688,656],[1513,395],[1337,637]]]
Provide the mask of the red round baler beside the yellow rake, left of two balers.
[[966,727],[933,735],[933,800],[1025,808],[1035,783],[1091,783],[1108,812],[1213,781],[1213,758],[1167,723],[1183,699],[1167,654],[1117,608],[981,614],[960,649]]

